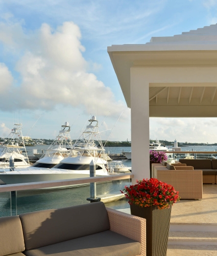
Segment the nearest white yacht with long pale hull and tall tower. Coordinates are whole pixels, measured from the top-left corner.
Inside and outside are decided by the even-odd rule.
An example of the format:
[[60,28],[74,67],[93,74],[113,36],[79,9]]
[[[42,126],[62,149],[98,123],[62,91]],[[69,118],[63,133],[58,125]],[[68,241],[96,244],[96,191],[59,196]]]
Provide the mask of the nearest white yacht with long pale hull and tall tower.
[[52,181],[62,179],[76,179],[90,176],[89,164],[95,163],[96,175],[109,175],[105,160],[105,150],[100,138],[98,121],[95,116],[89,120],[89,125],[70,150],[69,156],[64,158],[55,167],[28,168],[0,173],[0,179],[6,184]]

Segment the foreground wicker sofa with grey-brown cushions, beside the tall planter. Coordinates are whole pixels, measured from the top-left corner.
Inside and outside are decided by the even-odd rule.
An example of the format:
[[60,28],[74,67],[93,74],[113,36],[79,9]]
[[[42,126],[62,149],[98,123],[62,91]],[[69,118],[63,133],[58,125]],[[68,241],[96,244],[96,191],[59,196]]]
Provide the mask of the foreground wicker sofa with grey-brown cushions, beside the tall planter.
[[102,202],[0,218],[0,256],[146,255],[146,220]]

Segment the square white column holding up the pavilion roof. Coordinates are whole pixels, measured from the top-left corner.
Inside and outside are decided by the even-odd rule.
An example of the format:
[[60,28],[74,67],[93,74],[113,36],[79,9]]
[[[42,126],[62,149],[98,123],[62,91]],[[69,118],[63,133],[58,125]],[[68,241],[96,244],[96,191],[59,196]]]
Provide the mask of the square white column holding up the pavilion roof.
[[131,93],[131,148],[132,174],[136,180],[150,178],[149,161],[149,82],[142,75],[142,67],[132,67]]

